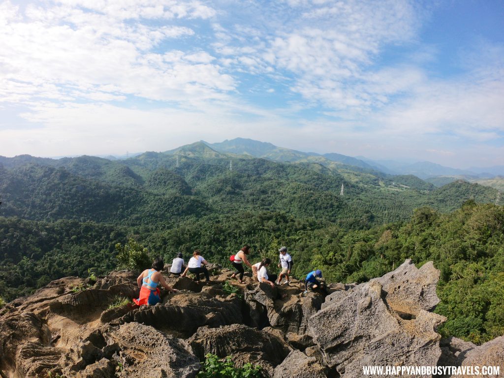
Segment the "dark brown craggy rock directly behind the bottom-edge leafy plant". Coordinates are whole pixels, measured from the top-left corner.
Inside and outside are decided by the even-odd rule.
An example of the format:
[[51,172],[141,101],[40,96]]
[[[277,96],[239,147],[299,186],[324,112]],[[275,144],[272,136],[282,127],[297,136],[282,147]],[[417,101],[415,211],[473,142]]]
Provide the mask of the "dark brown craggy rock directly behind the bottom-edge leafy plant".
[[201,327],[187,343],[200,360],[204,359],[206,353],[216,354],[220,358],[232,355],[236,365],[250,362],[260,365],[270,375],[291,351],[281,339],[238,324],[219,328]]

